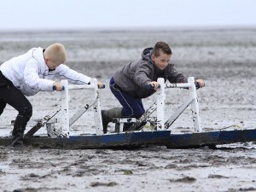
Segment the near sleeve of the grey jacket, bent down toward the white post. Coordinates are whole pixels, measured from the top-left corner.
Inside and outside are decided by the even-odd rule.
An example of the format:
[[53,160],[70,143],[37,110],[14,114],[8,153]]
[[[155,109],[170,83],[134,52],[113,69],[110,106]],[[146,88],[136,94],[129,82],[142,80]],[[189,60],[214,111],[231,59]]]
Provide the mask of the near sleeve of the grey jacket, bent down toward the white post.
[[150,68],[148,62],[143,61],[138,64],[134,81],[135,83],[140,87],[145,87],[148,83],[151,82],[151,79],[149,79],[149,75],[152,72],[152,69]]

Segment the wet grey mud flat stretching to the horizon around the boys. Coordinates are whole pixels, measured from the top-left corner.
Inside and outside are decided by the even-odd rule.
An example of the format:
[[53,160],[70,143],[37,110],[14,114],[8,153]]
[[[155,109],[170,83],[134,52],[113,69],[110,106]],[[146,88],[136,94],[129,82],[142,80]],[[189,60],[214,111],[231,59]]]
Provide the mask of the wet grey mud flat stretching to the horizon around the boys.
[[[60,42],[67,47],[68,66],[108,85],[117,67],[137,59],[143,48],[159,40],[172,46],[172,61],[178,71],[205,79],[207,86],[198,90],[205,131],[255,128],[255,29],[1,33],[0,61],[32,47],[45,48]],[[102,108],[119,105],[110,90],[100,90],[100,94]],[[166,116],[186,94],[186,90],[167,90]],[[73,91],[71,96],[70,109],[74,113],[90,93]],[[33,106],[32,119],[42,118],[60,103],[58,93],[41,92],[28,98]],[[154,100],[155,96],[145,99],[145,108]],[[73,125],[73,133],[93,132],[92,115],[84,114]],[[15,110],[7,106],[0,117],[2,135],[9,135],[15,116]],[[172,131],[192,131],[192,127],[191,113],[186,110],[172,125]],[[45,129],[39,133],[44,134]],[[255,143],[218,149],[0,147],[0,190],[256,191],[255,148]]]

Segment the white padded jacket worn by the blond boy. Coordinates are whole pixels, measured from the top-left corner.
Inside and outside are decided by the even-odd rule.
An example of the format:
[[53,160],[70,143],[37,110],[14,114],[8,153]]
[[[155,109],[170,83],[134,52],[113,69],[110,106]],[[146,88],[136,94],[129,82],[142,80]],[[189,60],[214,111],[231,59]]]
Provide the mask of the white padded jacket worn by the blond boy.
[[40,90],[53,91],[54,78],[67,79],[73,84],[89,84],[90,78],[64,64],[49,71],[44,62],[42,48],[30,49],[26,54],[12,58],[0,66],[4,77],[9,79],[25,96],[33,96]]

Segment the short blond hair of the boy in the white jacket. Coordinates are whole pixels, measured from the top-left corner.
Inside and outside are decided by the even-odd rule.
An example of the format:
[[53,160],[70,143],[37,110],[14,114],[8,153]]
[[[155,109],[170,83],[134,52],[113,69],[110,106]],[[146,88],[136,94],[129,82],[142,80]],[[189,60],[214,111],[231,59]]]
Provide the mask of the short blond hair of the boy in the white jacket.
[[44,50],[44,57],[55,65],[60,65],[66,61],[66,49],[63,44],[51,44]]

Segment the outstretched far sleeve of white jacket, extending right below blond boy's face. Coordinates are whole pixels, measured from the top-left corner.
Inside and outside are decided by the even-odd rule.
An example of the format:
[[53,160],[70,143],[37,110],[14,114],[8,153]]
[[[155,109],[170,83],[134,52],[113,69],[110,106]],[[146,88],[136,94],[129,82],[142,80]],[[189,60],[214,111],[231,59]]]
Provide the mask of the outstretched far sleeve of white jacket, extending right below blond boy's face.
[[67,79],[68,82],[72,84],[89,84],[91,79],[90,77],[82,73],[78,73],[64,64],[61,64],[56,68],[55,76],[60,79]]

